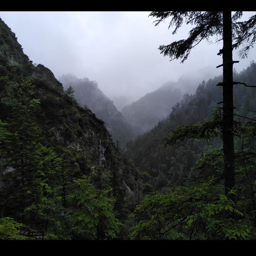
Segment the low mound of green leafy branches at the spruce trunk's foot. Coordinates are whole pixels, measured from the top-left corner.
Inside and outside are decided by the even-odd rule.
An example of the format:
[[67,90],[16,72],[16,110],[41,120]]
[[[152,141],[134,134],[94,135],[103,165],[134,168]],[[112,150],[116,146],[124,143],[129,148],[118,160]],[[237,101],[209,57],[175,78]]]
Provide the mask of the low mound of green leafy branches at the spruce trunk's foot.
[[[134,214],[136,225],[131,239],[246,239],[250,227],[242,209],[237,209],[215,179],[176,187],[167,195],[152,194],[145,197]],[[235,193],[235,192],[233,192]]]

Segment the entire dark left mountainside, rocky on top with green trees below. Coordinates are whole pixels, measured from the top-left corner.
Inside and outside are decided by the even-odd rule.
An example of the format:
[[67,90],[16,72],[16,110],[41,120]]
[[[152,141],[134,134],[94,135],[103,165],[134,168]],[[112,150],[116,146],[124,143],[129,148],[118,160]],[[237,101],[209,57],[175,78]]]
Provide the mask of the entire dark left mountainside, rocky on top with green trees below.
[[35,67],[0,19],[1,224],[45,239],[122,236],[133,172],[104,122]]

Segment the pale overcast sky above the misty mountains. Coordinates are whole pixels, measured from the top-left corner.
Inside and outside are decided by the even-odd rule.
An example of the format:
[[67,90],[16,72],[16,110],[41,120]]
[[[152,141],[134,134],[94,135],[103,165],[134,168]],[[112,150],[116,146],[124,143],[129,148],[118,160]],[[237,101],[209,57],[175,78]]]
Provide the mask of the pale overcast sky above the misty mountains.
[[[167,81],[182,75],[199,81],[221,74],[216,66],[219,44],[205,41],[192,49],[189,59],[169,61],[159,45],[185,39],[189,27],[176,35],[168,21],[155,27],[149,12],[0,12],[0,17],[16,34],[30,60],[51,69],[55,77],[74,74],[97,81],[110,98],[127,95],[137,100]],[[252,12],[244,13],[244,17]],[[234,53],[234,60],[239,60]],[[239,72],[256,61],[252,49],[248,59],[240,60]],[[194,85],[191,85],[194,86]]]

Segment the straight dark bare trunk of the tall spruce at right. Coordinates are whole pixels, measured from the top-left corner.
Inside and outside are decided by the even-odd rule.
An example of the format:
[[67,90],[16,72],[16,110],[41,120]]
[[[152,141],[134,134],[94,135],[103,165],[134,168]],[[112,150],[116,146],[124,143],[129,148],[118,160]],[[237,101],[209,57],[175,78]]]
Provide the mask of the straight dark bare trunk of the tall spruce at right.
[[233,62],[231,12],[223,12],[223,156],[225,195],[235,186],[234,133],[233,133]]

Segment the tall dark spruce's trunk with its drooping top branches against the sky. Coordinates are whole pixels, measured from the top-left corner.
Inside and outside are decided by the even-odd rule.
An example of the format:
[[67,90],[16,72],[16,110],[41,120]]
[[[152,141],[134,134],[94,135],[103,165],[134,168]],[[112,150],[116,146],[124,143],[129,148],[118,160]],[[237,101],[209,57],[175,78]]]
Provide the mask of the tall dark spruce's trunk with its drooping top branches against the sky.
[[[209,40],[215,36],[216,42],[223,40],[223,48],[218,55],[222,55],[223,81],[219,85],[223,88],[223,115],[221,120],[222,139],[223,139],[223,166],[224,166],[224,185],[225,194],[229,199],[235,200],[235,195],[229,193],[234,189],[235,182],[235,153],[234,153],[234,105],[233,105],[233,61],[232,51],[242,47],[239,51],[241,58],[247,56],[248,51],[256,41],[256,15],[247,21],[237,21],[243,12],[235,12],[232,16],[231,11],[223,12],[152,12],[149,16],[157,18],[157,26],[167,18],[171,18],[169,27],[175,27],[173,34],[182,26],[183,22],[192,25],[187,39],[174,41],[169,45],[159,47],[164,56],[169,56],[171,61],[182,59],[182,63],[188,58],[190,50],[197,46],[202,40]],[[219,124],[219,122],[218,122]],[[194,127],[193,127],[194,128]],[[205,126],[204,126],[205,128]],[[201,134],[202,135],[202,134]],[[195,138],[202,137],[194,133]],[[173,138],[167,138],[167,144],[173,143]],[[176,136],[175,136],[176,138]],[[176,141],[176,140],[175,140]]]

